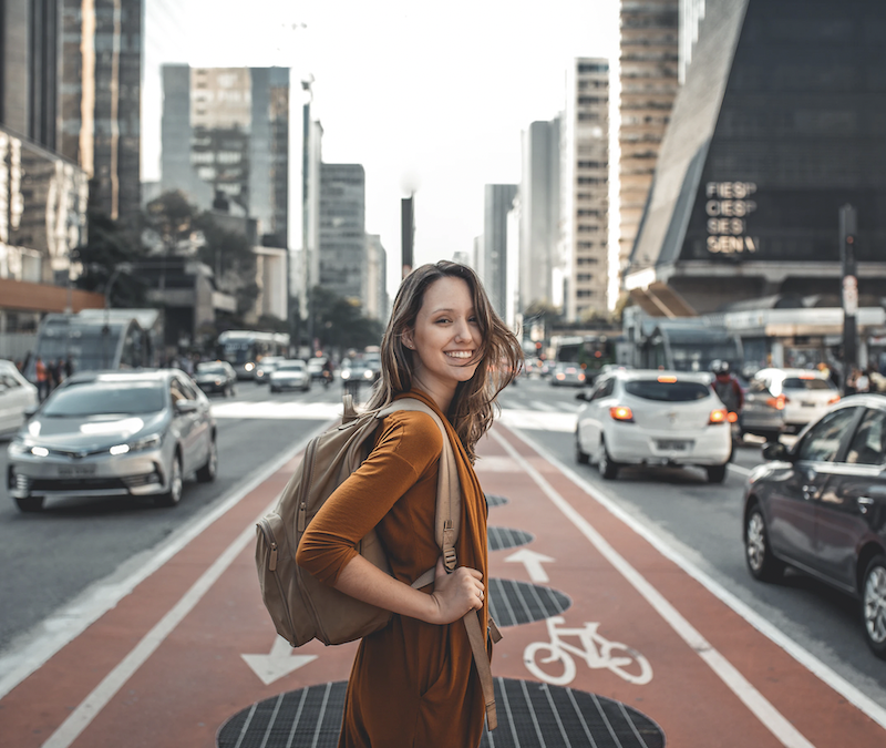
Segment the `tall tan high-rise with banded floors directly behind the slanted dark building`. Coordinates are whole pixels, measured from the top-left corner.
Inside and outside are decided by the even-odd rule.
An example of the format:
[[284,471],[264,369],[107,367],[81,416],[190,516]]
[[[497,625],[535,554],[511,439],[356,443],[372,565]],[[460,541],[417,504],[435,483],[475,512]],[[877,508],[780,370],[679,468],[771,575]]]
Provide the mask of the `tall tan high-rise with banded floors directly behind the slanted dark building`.
[[[678,47],[691,57],[704,0],[621,0],[618,132],[619,268],[633,249],[656,162],[679,89]],[[687,33],[680,33],[680,18]],[[694,22],[693,22],[694,21]]]

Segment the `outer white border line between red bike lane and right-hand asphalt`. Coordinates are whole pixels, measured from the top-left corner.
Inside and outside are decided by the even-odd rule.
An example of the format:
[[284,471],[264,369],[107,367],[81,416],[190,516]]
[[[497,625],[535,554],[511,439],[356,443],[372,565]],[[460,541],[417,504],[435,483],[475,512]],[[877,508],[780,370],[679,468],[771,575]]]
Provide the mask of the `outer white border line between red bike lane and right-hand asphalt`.
[[699,566],[689,561],[679,551],[669,545],[664,540],[657,535],[651,529],[639,522],[636,518],[628,514],[624,509],[618,505],[615,499],[601,488],[594,485],[581,478],[571,468],[560,462],[552,452],[542,447],[535,440],[527,437],[519,431],[512,431],[521,441],[534,449],[545,460],[550,462],[557,470],[563,472],[573,483],[580,488],[594,501],[601,506],[606,508],[612,515],[617,516],[621,522],[627,524],[633,532],[646,540],[652,547],[655,547],[661,555],[669,561],[677,564],[693,580],[701,584],[712,595],[729,605],[735,613],[751,624],[763,636],[769,638],[773,644],[776,644],[784,649],[797,663],[803,665],[810,673],[816,676],[820,680],[833,688],[837,694],[843,696],[849,704],[858,708],[865,715],[870,717],[880,727],[886,728],[886,709],[884,709],[874,699],[863,694],[858,688],[853,686],[842,675],[836,673],[832,667],[825,665],[821,659],[813,655],[808,649],[800,646],[794,639],[782,632],[777,626],[774,626],[766,621],[756,611],[750,607],[746,603],[739,600],[734,594],[727,590],[722,584],[717,582],[707,572],[702,571]]

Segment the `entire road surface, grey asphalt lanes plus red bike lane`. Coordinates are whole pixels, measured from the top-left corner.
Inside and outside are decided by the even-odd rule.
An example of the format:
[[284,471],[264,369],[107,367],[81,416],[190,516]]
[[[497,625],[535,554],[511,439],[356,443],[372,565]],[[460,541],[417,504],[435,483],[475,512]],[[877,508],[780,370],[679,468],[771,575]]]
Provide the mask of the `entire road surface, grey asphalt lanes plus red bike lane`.
[[[505,634],[493,660],[501,725],[484,745],[543,745],[507,742],[522,718],[508,711],[515,683],[621,701],[668,745],[882,745],[886,664],[865,646],[857,603],[799,574],[763,585],[745,570],[742,486],[759,444],[740,448],[722,485],[696,469],[604,481],[575,462],[576,392],[519,380],[481,444],[490,596]],[[172,510],[79,500],[24,515],[3,502],[0,735],[10,745],[126,736],[127,746],[208,748],[237,716],[218,732],[233,746],[231,730],[253,738],[251,704],[347,679],[352,645],[293,655],[275,644],[253,562],[255,519],[340,395],[315,385],[271,396],[241,382],[236,398],[214,399],[218,479],[188,481]],[[524,605],[521,618],[515,591],[524,601],[542,587],[555,607]],[[589,637],[584,654],[566,648],[574,636]],[[630,664],[607,660],[609,645],[627,647]],[[545,665],[545,652],[559,660]],[[311,735],[334,731],[329,719]],[[549,737],[544,745],[567,745]],[[292,745],[329,745],[301,740]]]

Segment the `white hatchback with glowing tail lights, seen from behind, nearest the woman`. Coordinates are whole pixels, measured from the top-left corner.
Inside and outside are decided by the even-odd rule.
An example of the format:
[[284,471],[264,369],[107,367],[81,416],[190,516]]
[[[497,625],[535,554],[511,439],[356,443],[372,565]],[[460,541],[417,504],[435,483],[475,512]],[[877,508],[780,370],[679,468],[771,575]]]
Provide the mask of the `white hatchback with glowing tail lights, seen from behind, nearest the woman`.
[[617,370],[578,399],[576,457],[604,478],[628,464],[701,465],[710,482],[725,478],[732,430],[705,375]]

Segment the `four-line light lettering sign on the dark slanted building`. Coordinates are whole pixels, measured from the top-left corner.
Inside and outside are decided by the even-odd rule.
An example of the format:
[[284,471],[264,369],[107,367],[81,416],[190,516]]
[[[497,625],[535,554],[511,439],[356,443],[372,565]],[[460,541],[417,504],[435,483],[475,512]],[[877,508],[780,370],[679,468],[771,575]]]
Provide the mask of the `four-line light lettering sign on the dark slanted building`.
[[749,217],[756,211],[756,202],[751,199],[755,193],[753,182],[708,182],[704,185],[708,252],[736,255],[760,249],[760,238],[748,232]]

